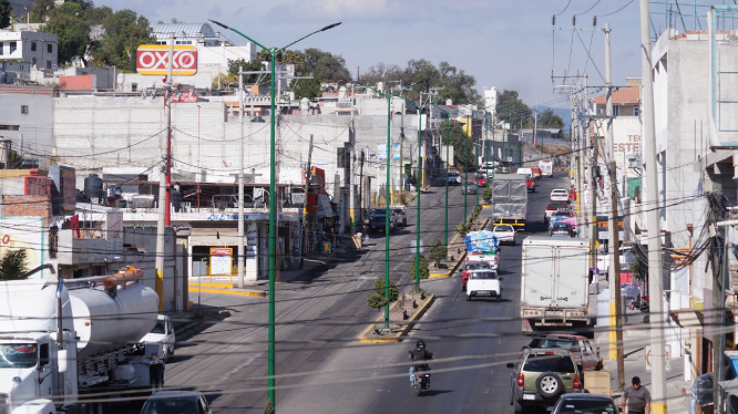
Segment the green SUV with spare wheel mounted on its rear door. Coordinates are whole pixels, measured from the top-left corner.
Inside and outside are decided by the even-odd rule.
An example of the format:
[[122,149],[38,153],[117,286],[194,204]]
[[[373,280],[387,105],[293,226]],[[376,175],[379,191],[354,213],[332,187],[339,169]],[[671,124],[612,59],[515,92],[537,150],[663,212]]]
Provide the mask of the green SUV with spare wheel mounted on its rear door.
[[561,394],[582,392],[582,366],[567,350],[526,349],[510,375],[510,405],[520,413],[524,406],[552,406]]

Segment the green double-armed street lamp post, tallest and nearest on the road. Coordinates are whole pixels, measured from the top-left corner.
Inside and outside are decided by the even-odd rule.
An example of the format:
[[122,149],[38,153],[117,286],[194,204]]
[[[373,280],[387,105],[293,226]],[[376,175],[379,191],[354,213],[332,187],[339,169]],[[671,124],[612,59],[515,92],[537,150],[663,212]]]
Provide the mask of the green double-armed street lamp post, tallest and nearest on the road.
[[[208,19],[208,20],[211,20],[211,19]],[[283,50],[291,46],[293,44],[295,44],[295,43],[297,43],[297,42],[299,42],[299,41],[301,41],[306,38],[311,37],[312,34],[316,34],[318,32],[325,32],[326,30],[332,29],[332,28],[339,25],[340,22],[326,25],[325,28],[322,28],[320,30],[316,30],[316,31],[314,31],[309,34],[306,34],[306,35],[297,39],[296,41],[287,44],[284,48],[277,49],[277,48],[267,48],[267,46],[260,44],[259,42],[255,41],[254,39],[247,37],[246,34],[239,32],[238,30],[236,30],[232,27],[225,25],[225,24],[223,24],[221,22],[217,22],[215,20],[211,20],[211,21],[213,23],[226,29],[226,30],[230,30],[230,31],[248,39],[249,41],[254,42],[254,44],[258,45],[259,48],[269,51],[269,55],[271,58],[271,62],[270,62],[271,85],[270,85],[270,96],[269,96],[269,101],[270,101],[270,107],[269,107],[269,118],[270,118],[270,121],[269,121],[270,122],[270,125],[269,125],[269,127],[270,127],[270,132],[269,132],[270,133],[270,135],[269,135],[270,136],[270,139],[269,139],[269,161],[270,161],[270,163],[269,163],[269,333],[268,333],[269,349],[268,349],[268,361],[267,361],[267,374],[268,374],[268,383],[267,384],[268,384],[268,389],[269,389],[268,390],[268,399],[269,399],[269,401],[271,401],[271,404],[274,404],[274,406],[276,406],[277,402],[275,400],[275,390],[274,390],[274,387],[275,387],[275,379],[274,379],[274,375],[275,375],[275,328],[276,328],[275,327],[275,300],[274,300],[275,289],[274,289],[274,284],[275,284],[275,277],[276,277],[275,269],[277,267],[277,260],[276,260],[277,259],[276,258],[277,231],[276,231],[276,227],[277,227],[277,197],[278,197],[278,194],[277,194],[277,188],[276,188],[277,178],[276,178],[276,169],[275,169],[275,161],[276,161],[275,159],[276,158],[276,148],[275,148],[275,135],[276,135],[276,133],[275,133],[275,106],[276,106],[276,103],[275,103],[275,94],[276,94],[276,91],[275,91],[274,86],[275,86],[276,81],[277,81],[276,80],[276,73],[275,73],[276,66],[277,66],[277,53],[281,52]],[[243,116],[243,114],[242,114],[242,116]],[[244,154],[240,154],[239,156],[243,157]]]

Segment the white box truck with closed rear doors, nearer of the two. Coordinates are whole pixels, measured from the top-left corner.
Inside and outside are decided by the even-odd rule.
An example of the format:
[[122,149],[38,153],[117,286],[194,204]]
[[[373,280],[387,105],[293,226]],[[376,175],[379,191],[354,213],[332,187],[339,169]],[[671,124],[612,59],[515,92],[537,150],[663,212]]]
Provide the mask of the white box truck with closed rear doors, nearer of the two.
[[522,260],[523,331],[590,322],[590,239],[529,237]]

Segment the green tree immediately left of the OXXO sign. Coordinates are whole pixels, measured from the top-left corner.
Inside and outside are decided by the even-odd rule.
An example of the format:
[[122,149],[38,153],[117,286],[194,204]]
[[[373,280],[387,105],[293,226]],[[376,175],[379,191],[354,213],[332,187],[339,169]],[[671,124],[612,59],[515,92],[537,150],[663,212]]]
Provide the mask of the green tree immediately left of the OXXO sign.
[[154,41],[148,33],[148,19],[124,9],[107,15],[103,28],[105,37],[92,48],[95,59],[121,71],[135,72],[136,50]]

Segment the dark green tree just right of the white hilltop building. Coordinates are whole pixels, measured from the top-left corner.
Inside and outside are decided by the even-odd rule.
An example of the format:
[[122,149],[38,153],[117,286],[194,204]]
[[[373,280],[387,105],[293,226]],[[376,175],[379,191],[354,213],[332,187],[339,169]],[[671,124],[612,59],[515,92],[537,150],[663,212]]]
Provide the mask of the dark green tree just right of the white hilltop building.
[[84,20],[84,11],[76,3],[64,3],[50,11],[51,19],[39,31],[57,34],[59,52],[58,63],[71,62],[72,58],[84,53],[90,43],[90,25]]

